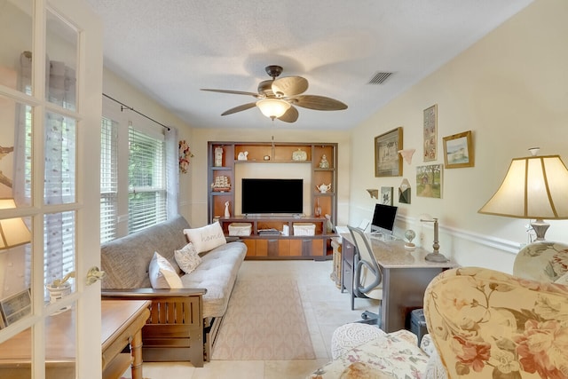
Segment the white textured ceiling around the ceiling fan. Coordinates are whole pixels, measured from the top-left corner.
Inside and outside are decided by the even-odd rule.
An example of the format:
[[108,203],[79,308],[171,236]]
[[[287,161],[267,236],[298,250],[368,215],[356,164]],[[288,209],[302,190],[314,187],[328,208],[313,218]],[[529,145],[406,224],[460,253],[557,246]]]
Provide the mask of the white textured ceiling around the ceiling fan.
[[[256,92],[270,79],[264,67],[280,65],[280,76],[309,81],[305,94],[339,99],[349,108],[298,107],[297,122],[274,126],[345,130],[532,0],[87,2],[103,20],[106,67],[193,127],[271,126],[256,107],[220,115],[254,98],[200,88]],[[369,84],[379,72],[393,75]]]

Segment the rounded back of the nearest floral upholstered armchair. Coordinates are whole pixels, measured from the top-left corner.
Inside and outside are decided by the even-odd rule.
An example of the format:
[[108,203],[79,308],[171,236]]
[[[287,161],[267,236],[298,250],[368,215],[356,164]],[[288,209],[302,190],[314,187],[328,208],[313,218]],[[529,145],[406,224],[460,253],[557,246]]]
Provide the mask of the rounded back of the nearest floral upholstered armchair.
[[451,378],[568,377],[568,286],[457,268],[430,282],[424,314]]

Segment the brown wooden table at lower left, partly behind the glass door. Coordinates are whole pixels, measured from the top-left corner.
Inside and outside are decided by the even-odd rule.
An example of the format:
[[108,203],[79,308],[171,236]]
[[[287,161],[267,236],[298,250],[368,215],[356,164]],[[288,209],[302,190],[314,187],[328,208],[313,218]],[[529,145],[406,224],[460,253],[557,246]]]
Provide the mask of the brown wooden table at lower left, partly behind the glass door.
[[[132,379],[142,379],[142,328],[150,315],[147,300],[103,300],[101,349],[103,378],[118,378],[131,367]],[[75,309],[46,322],[45,370],[48,377],[75,377]],[[0,377],[31,375],[30,330],[0,344]],[[122,353],[130,346],[130,354]]]

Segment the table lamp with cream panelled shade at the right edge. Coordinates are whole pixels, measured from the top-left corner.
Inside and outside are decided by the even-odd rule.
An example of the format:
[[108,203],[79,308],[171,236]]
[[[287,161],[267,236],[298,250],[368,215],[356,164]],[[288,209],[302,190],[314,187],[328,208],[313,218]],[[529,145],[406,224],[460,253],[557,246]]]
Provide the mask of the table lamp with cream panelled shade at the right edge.
[[536,241],[544,241],[550,226],[544,218],[568,218],[568,170],[559,155],[537,156],[538,147],[529,151],[532,156],[513,159],[501,186],[478,212],[534,218]]

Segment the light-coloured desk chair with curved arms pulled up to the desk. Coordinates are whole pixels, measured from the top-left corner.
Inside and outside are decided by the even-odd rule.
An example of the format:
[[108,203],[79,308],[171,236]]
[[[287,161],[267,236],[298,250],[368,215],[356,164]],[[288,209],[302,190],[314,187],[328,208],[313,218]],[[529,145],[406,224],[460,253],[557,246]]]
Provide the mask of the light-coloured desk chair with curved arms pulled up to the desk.
[[[353,290],[351,291],[351,311],[354,309],[355,297],[372,298],[383,300],[383,272],[376,263],[375,255],[369,245],[369,241],[362,229],[347,225],[349,233],[358,254],[355,255],[353,272]],[[361,314],[366,324],[379,324],[381,315],[379,313],[365,311]]]

